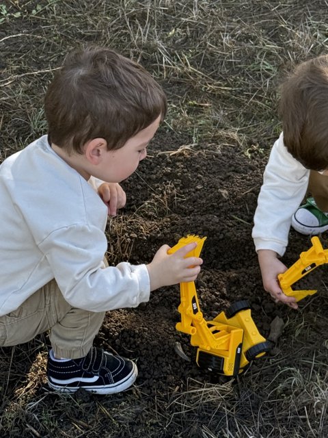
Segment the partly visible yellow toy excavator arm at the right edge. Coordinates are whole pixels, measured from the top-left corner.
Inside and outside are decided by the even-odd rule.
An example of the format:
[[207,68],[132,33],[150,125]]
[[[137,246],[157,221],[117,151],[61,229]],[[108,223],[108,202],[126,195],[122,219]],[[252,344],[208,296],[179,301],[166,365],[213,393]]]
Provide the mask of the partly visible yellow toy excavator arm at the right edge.
[[319,238],[314,236],[311,242],[311,248],[301,253],[299,259],[286,272],[278,275],[282,292],[288,296],[295,296],[297,301],[315,294],[316,290],[293,290],[291,286],[318,266],[328,262],[328,249],[323,249]]

